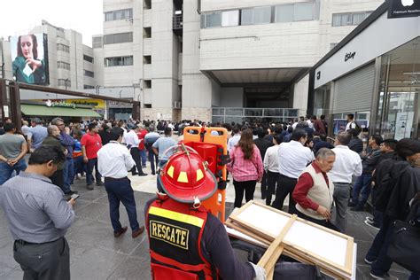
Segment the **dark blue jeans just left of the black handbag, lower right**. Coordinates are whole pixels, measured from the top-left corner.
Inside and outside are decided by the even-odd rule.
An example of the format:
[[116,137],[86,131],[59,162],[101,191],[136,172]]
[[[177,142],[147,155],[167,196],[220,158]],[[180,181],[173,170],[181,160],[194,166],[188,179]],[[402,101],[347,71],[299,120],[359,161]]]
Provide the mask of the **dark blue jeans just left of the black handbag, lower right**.
[[377,236],[366,254],[368,261],[374,261],[371,272],[377,276],[384,276],[393,264],[393,261],[386,255],[392,236],[393,220],[385,216],[382,222],[382,228],[377,232]]

